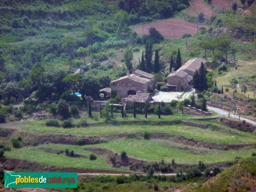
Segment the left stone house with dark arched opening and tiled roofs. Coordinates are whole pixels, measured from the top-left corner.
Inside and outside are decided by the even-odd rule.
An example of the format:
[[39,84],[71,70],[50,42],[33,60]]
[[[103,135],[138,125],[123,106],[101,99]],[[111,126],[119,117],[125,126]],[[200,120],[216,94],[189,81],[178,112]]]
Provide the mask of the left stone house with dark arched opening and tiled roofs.
[[147,93],[153,89],[154,75],[141,70],[132,69],[131,74],[127,71],[126,76],[111,81],[111,91],[116,91],[120,97],[136,95],[137,91]]

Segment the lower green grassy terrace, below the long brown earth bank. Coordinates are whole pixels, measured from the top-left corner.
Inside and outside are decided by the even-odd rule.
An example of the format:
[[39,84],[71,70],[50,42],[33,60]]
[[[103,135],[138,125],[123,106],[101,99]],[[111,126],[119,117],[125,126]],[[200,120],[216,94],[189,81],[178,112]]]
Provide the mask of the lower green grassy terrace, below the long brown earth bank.
[[[76,154],[84,155],[85,157],[66,157],[61,154],[52,154],[41,151],[38,147],[54,148],[58,150],[74,150]],[[121,153],[126,151],[128,156],[143,158],[146,160],[160,161],[162,158],[170,162],[172,158],[177,163],[192,163],[196,164],[199,160],[204,163],[219,163],[233,161],[236,156],[249,157],[255,149],[250,150],[235,150],[222,151],[208,148],[194,148],[185,145],[166,142],[163,140],[143,140],[143,139],[125,139],[113,140],[108,143],[96,145],[56,145],[45,144],[32,148],[20,148],[12,151],[6,151],[7,157],[36,161],[53,166],[72,167],[72,168],[87,168],[87,169],[108,169],[119,170],[109,166],[102,157],[97,156],[97,160],[91,161],[88,159],[90,151],[84,150],[88,147],[110,148],[113,151]]]

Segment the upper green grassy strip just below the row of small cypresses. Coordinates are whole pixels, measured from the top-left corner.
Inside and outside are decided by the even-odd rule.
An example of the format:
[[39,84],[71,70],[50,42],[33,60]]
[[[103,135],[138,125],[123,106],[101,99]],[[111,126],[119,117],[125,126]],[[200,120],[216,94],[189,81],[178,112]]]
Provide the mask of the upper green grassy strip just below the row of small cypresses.
[[[131,115],[131,114],[129,114]],[[163,116],[162,119],[158,119],[156,115],[149,115],[148,121],[167,121],[167,120],[177,120],[178,117],[175,116]],[[195,121],[187,118],[182,118],[184,120]],[[88,119],[93,121],[93,119]],[[121,119],[115,119],[119,121]],[[138,115],[137,119],[127,118],[122,119],[123,121],[137,121],[145,120],[143,115]],[[75,120],[79,121],[79,120]],[[102,119],[99,119],[97,122],[102,122]],[[218,125],[222,129],[220,131],[215,131],[211,129],[202,129],[198,127],[191,127],[184,124],[176,125],[102,125],[100,126],[89,126],[89,127],[80,127],[80,128],[57,128],[57,127],[47,127],[45,125],[45,120],[41,121],[23,121],[23,122],[12,122],[3,124],[3,128],[19,128],[22,131],[32,131],[38,133],[51,133],[51,134],[79,134],[79,135],[108,135],[108,134],[121,134],[121,133],[144,133],[145,131],[149,133],[163,133],[170,134],[173,136],[184,136],[189,139],[196,139],[207,141],[211,143],[256,143],[256,135],[246,132],[242,132],[236,129],[227,128],[224,125],[221,125],[218,122],[210,121],[198,121],[201,123],[207,123],[212,125]],[[197,121],[195,121],[197,122]],[[240,134],[238,134],[240,133]]]

